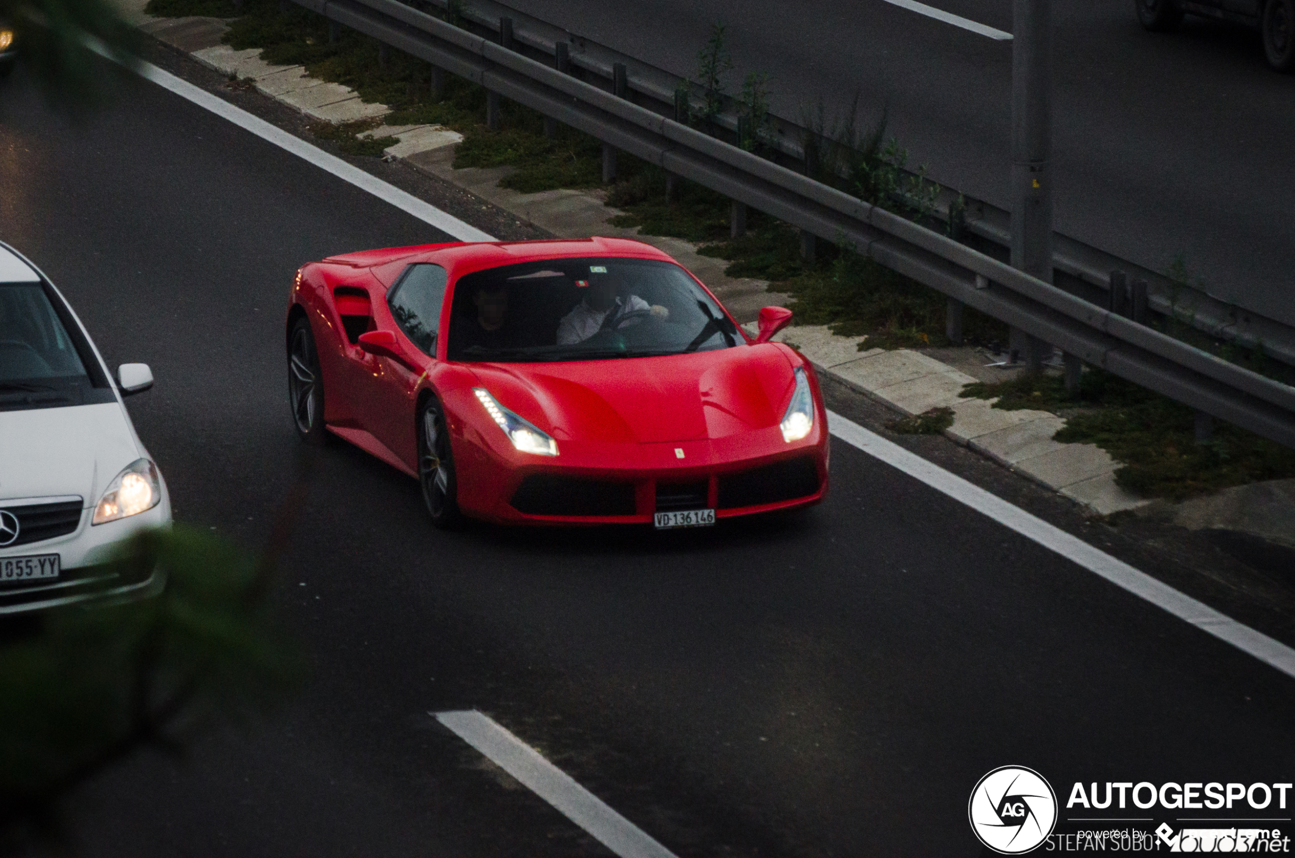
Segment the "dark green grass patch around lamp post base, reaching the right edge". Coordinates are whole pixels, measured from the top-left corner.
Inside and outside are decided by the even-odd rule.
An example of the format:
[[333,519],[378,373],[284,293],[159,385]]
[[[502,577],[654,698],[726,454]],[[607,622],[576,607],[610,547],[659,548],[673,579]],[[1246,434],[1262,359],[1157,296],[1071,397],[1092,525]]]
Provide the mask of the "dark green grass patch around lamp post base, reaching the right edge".
[[1184,500],[1228,486],[1295,477],[1295,450],[1219,423],[1195,443],[1191,408],[1101,369],[1080,378],[1070,395],[1059,376],[1023,376],[1001,384],[971,384],[963,397],[991,399],[995,408],[1037,408],[1066,417],[1054,435],[1063,443],[1094,443],[1120,463],[1115,482],[1145,498]]

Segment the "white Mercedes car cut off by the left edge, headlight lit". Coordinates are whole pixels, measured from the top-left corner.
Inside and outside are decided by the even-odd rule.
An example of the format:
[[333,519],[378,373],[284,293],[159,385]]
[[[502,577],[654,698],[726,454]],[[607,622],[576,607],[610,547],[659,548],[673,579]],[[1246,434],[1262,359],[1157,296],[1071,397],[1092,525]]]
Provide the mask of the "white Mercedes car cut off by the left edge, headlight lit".
[[113,378],[62,294],[0,242],[0,614],[164,586],[159,569],[126,579],[106,565],[136,531],[171,522],[122,404],[152,386],[142,363]]

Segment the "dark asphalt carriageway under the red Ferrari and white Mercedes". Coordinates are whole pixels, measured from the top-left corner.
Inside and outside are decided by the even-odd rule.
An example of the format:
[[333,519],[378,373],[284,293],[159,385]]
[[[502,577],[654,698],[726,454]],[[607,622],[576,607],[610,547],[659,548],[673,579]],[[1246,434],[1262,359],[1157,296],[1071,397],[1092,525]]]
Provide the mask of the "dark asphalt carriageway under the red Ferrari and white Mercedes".
[[[111,364],[153,367],[130,407],[176,517],[262,544],[299,452],[293,271],[438,236],[142,80],[76,123],[10,83],[0,235]],[[467,708],[681,857],[976,855],[969,794],[1008,763],[1062,793],[1291,780],[1287,677],[840,442],[831,478],[812,511],[704,531],[444,534],[412,480],[335,445],[276,595],[306,688],[105,776],[70,836],[95,857],[606,855],[429,715]]]

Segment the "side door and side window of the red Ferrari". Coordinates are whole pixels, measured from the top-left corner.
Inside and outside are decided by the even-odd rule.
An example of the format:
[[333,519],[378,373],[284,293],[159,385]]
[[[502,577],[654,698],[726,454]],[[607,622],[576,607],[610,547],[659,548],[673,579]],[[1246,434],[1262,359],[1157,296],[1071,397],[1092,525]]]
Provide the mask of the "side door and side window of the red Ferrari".
[[411,467],[417,458],[414,399],[418,381],[436,358],[436,332],[447,279],[440,266],[414,263],[387,292],[387,308],[403,334],[398,334],[398,341],[405,359],[377,359],[379,365],[373,378],[376,398],[365,415],[372,428],[365,428]]

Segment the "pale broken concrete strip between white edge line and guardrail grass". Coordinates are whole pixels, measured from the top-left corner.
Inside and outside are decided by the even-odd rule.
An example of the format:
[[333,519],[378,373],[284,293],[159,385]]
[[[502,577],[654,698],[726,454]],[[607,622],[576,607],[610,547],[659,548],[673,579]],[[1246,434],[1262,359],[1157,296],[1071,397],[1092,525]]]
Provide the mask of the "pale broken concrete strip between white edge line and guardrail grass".
[[[391,111],[386,105],[363,102],[347,87],[307,76],[302,66],[275,66],[260,58],[259,49],[234,51],[221,44],[228,27],[218,18],[154,18],[144,13],[145,4],[146,0],[119,3],[126,19],[144,32],[189,53],[208,69],[249,80],[256,91],[304,115],[343,123],[379,119]],[[741,320],[755,319],[761,306],[787,301],[787,296],[769,293],[761,280],[726,276],[724,261],[698,254],[697,246],[688,241],[638,236],[637,229],[609,224],[619,213],[605,205],[598,191],[523,194],[499,185],[509,167],[455,170],[453,146],[462,135],[442,126],[378,127],[365,136],[396,137],[399,143],[383,150],[387,158],[400,158],[458,185],[556,237],[622,236],[658,246],[711,286]],[[749,321],[745,327],[754,332],[754,325]],[[944,433],[951,439],[1098,515],[1150,503],[1115,483],[1119,465],[1106,451],[1094,445],[1053,441],[1064,425],[1061,417],[1045,411],[1004,411],[988,400],[963,399],[960,395],[963,385],[976,378],[930,355],[908,349],[860,351],[864,337],[838,337],[821,325],[789,328],[776,338],[793,345],[822,375],[904,415],[952,408],[953,425]]]

